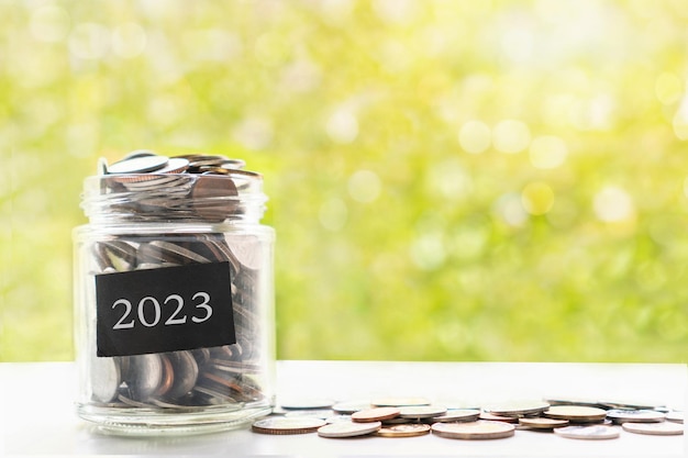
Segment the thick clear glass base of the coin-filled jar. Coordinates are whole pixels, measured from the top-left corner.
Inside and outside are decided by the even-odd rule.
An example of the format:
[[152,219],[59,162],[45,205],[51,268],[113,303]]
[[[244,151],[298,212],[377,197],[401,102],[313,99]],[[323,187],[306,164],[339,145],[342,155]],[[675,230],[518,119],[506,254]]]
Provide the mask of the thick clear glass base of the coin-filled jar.
[[165,412],[154,409],[113,409],[79,404],[77,414],[93,424],[96,432],[116,436],[184,436],[238,429],[267,416],[269,405],[241,409],[211,406],[195,411]]

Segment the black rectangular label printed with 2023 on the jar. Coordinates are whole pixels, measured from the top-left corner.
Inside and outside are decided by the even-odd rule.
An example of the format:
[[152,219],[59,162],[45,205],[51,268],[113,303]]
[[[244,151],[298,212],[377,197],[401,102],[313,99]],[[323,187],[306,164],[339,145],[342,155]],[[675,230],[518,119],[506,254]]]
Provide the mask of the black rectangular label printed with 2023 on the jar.
[[230,262],[96,276],[98,356],[236,343]]

